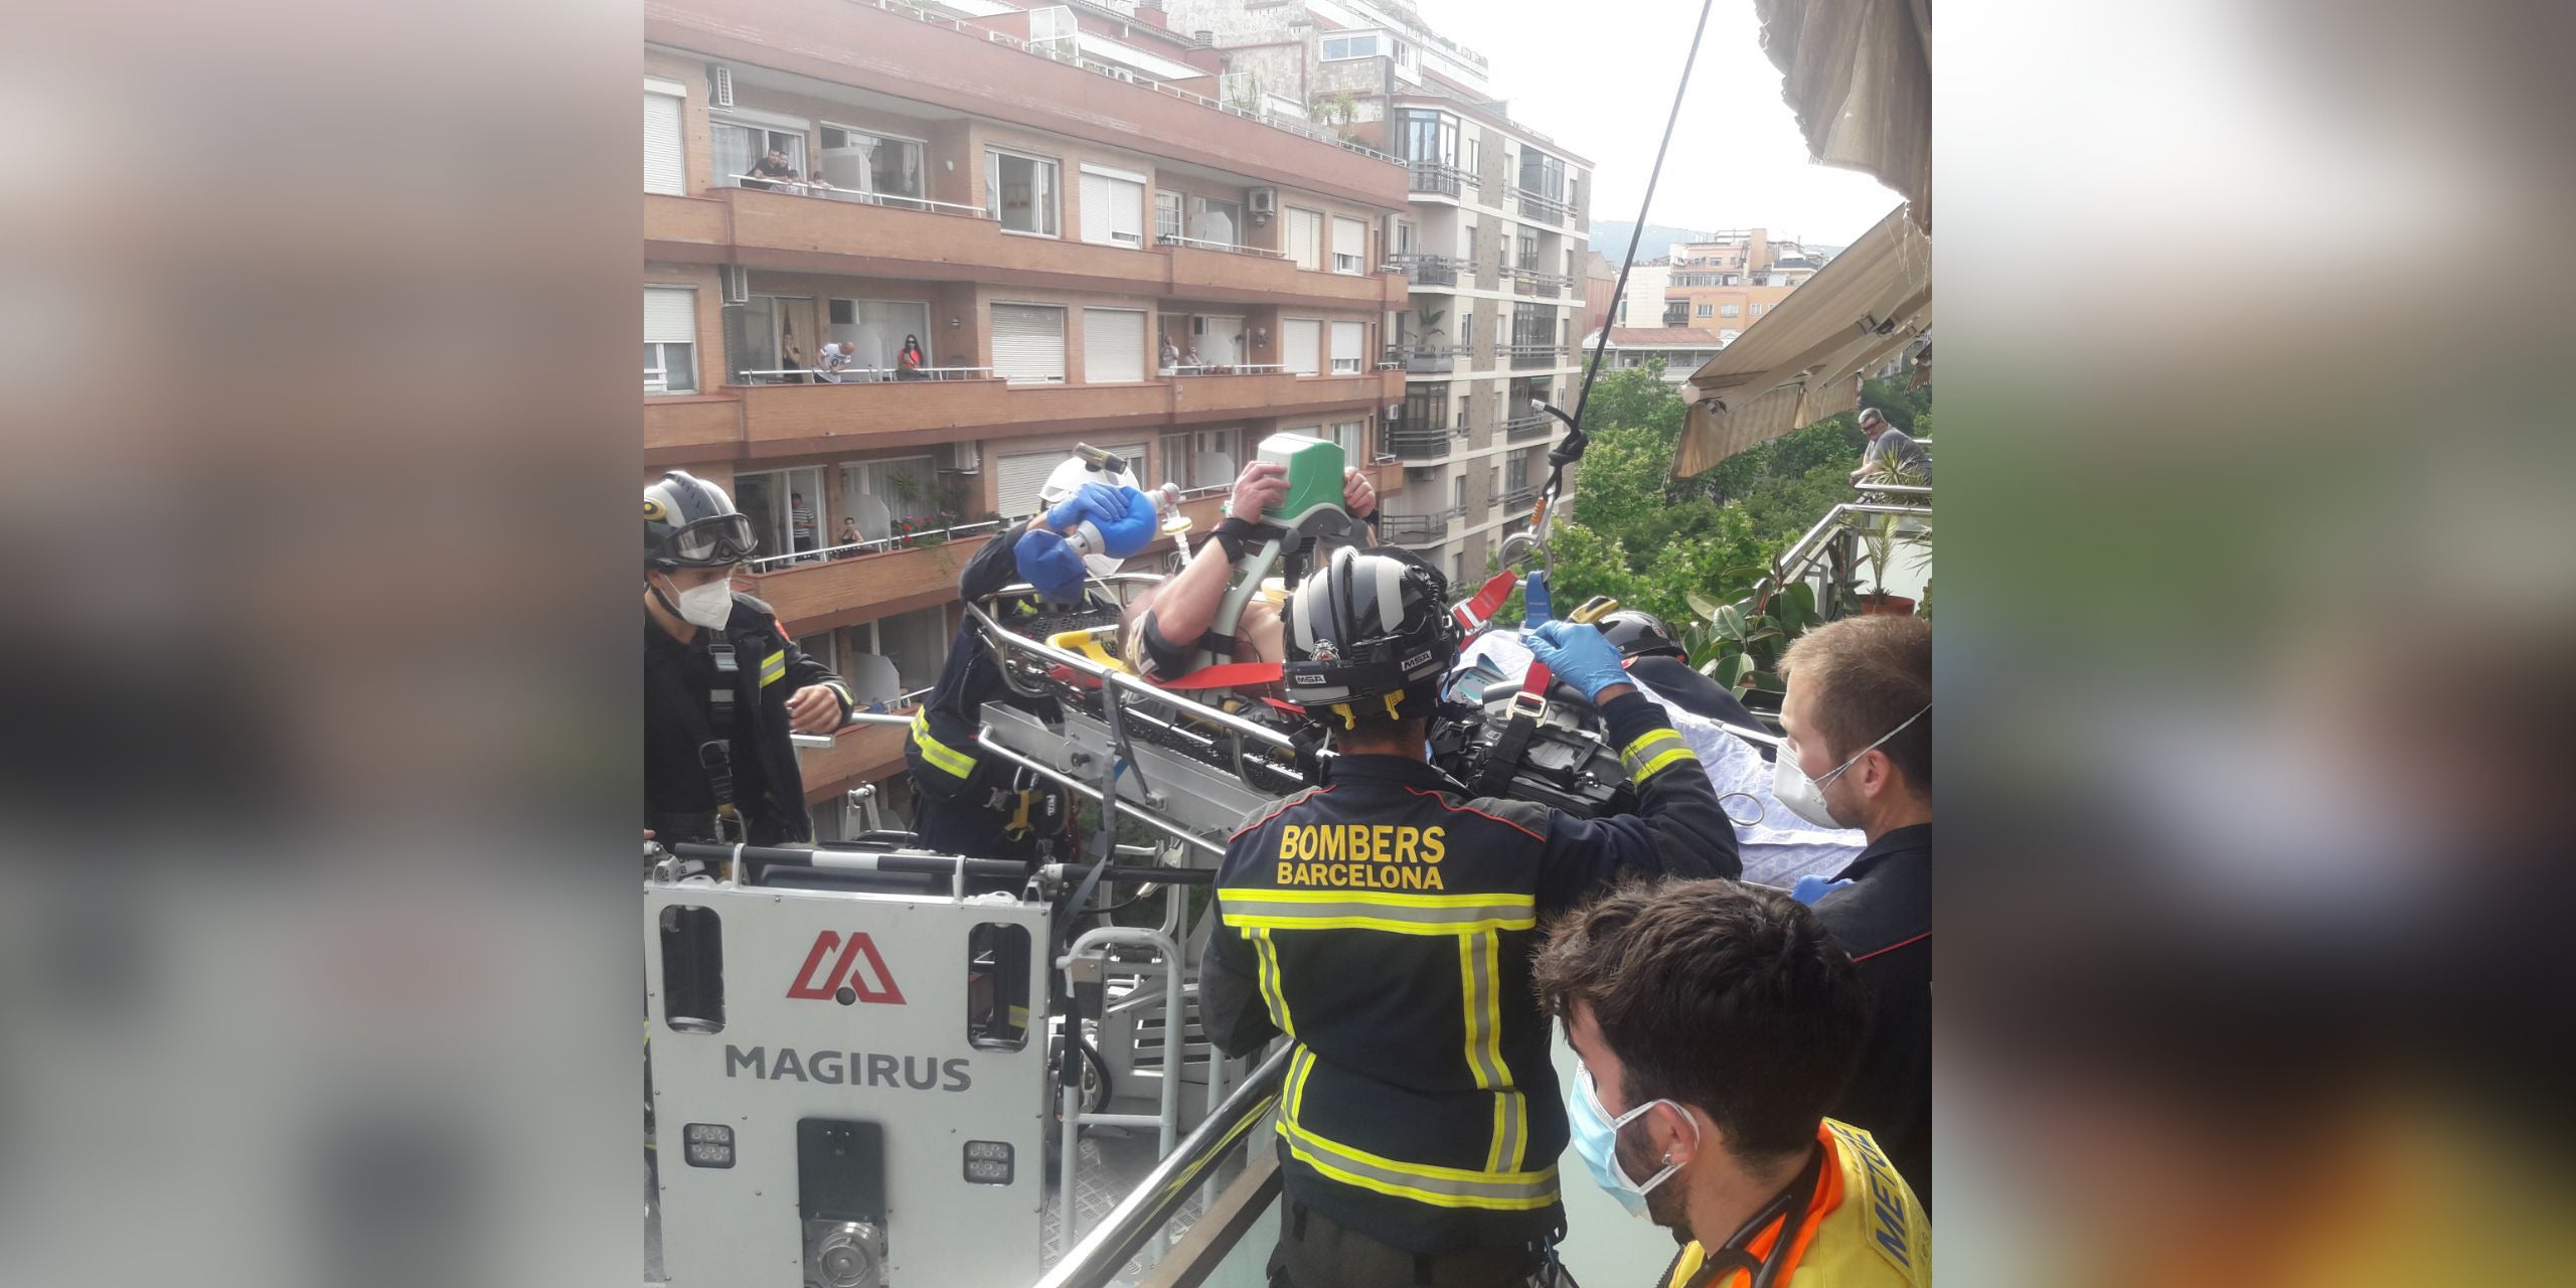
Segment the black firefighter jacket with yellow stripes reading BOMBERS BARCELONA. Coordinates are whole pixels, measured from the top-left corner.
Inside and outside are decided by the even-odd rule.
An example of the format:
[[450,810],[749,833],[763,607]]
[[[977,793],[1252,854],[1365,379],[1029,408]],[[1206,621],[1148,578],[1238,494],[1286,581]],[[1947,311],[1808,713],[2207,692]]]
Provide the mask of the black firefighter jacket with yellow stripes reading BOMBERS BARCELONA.
[[1643,796],[1633,817],[1471,799],[1419,760],[1342,755],[1234,835],[1200,1015],[1229,1054],[1296,1043],[1278,1126],[1291,1200],[1417,1255],[1564,1231],[1538,925],[1623,873],[1741,873],[1664,711],[1625,693],[1602,721]]

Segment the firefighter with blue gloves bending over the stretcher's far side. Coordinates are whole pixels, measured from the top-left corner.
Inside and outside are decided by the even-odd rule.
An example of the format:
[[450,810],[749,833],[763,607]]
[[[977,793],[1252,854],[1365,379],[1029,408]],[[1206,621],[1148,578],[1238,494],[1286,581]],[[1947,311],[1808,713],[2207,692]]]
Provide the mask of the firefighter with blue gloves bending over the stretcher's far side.
[[[1084,574],[1108,574],[1149,546],[1159,531],[1154,502],[1126,461],[1108,453],[1072,456],[1038,492],[1038,515],[1005,528],[966,562],[958,598],[984,603],[1012,582],[1038,592],[994,605],[997,621],[1023,626],[1048,603],[1110,611],[1084,592]],[[1041,863],[1074,855],[1072,796],[984,750],[984,703],[1005,703],[1048,724],[1064,711],[1002,680],[1002,667],[974,623],[958,626],[938,688],[912,716],[904,765],[912,770],[912,832],[938,853]]]

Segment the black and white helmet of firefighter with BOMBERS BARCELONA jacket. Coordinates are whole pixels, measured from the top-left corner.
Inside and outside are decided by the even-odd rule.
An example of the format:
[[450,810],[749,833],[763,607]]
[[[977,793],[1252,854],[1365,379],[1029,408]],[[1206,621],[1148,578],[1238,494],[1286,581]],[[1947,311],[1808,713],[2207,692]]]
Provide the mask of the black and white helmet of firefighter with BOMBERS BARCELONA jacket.
[[1401,549],[1334,549],[1288,595],[1280,634],[1288,701],[1342,729],[1430,716],[1458,657],[1448,577]]

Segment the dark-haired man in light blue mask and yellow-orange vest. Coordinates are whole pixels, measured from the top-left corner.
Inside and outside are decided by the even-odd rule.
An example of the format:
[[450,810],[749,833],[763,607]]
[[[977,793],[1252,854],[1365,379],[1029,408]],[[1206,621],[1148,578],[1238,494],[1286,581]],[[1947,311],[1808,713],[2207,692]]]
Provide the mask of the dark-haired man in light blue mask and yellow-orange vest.
[[1824,1115],[1868,1002],[1814,912],[1736,881],[1631,886],[1564,917],[1535,979],[1582,1064],[1574,1149],[1682,1242],[1664,1288],[1932,1283],[1914,1190]]

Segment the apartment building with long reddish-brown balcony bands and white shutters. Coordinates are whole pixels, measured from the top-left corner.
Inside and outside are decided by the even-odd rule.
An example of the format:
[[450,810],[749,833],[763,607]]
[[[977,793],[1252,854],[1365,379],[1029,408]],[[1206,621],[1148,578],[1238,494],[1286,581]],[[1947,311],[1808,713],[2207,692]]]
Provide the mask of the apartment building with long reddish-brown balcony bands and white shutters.
[[[1159,10],[665,0],[644,15],[644,466],[726,484],[742,587],[899,708],[956,580],[1077,440],[1213,526],[1260,438],[1383,459],[1409,283],[1381,273],[1399,160],[1226,111]],[[848,366],[817,374],[819,345]],[[1167,361],[1172,353],[1172,361]],[[855,528],[858,538],[840,533]],[[902,729],[806,750],[829,809]]]

